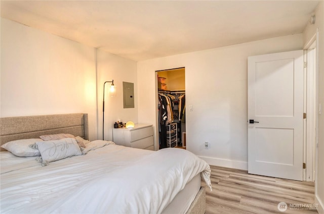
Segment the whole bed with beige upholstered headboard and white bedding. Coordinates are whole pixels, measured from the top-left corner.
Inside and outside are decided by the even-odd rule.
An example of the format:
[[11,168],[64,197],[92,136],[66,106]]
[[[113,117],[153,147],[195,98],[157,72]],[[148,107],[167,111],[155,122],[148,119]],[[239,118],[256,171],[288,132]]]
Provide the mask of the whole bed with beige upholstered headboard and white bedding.
[[[2,148],[1,213],[205,213],[206,190],[200,179],[211,188],[211,171],[189,151],[87,141],[87,114],[10,117],[0,123],[4,147],[39,136],[74,136],[32,140],[28,147],[41,152],[33,156]],[[61,148],[62,141],[69,150],[77,142],[80,151],[51,161],[44,146],[57,143]]]

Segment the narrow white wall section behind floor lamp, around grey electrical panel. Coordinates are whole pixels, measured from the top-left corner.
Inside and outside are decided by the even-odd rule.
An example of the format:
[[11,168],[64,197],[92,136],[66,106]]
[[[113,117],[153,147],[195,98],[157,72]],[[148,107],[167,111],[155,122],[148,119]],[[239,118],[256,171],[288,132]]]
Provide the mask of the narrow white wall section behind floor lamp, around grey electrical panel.
[[[105,91],[105,126],[104,139],[112,140],[112,129],[114,122],[119,120],[126,123],[133,121],[138,123],[137,109],[137,63],[132,60],[118,57],[100,49],[97,51],[98,62],[98,138],[102,139],[102,108],[103,108],[103,84],[105,81],[114,81],[116,86],[115,97],[110,97],[106,83]],[[135,108],[124,109],[123,82],[134,83],[134,106]]]

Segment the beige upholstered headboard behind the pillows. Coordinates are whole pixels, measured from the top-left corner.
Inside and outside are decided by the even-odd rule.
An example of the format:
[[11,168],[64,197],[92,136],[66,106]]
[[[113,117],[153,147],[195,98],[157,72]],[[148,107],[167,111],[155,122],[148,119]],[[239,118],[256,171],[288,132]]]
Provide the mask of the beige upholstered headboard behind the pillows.
[[[0,118],[0,144],[44,134],[67,133],[89,139],[88,114],[41,115]],[[1,150],[5,150],[1,148]]]

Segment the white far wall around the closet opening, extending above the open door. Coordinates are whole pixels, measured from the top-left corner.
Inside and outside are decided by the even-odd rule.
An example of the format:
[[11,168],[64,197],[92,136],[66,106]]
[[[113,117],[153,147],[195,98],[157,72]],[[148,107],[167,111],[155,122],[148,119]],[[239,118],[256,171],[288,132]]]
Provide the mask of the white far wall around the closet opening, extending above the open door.
[[209,164],[247,169],[248,57],[302,48],[296,34],[138,62],[139,122],[157,124],[155,71],[185,67],[187,149]]

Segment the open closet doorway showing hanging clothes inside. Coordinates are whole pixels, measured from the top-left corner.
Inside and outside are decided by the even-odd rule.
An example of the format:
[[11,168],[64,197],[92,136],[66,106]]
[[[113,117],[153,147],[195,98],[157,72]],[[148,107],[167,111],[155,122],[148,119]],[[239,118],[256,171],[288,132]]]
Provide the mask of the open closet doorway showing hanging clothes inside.
[[158,148],[186,148],[185,68],[156,71]]

